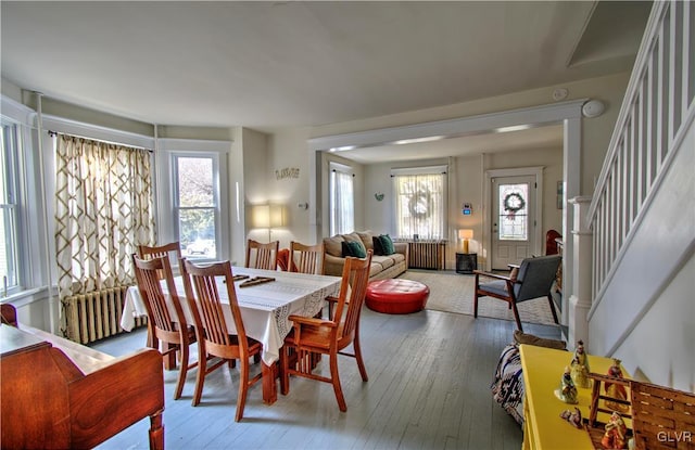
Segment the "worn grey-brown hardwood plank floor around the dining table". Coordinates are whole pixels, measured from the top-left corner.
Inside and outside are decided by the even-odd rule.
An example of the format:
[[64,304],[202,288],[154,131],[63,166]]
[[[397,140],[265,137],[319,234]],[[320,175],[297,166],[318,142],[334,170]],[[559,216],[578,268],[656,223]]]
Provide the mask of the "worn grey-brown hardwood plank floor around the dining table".
[[[490,394],[497,358],[511,340],[511,321],[425,310],[389,316],[367,308],[362,343],[369,382],[352,358],[341,358],[348,412],[329,384],[291,378],[290,394],[265,406],[261,385],[249,391],[244,417],[235,423],[236,369],[206,377],[201,404],[191,407],[197,370],[173,400],[177,371],[165,371],[167,449],[515,449],[519,425]],[[556,327],[525,324],[527,333],[559,337]],[[93,347],[119,356],[144,345],[134,333]],[[327,370],[328,361],[319,364]],[[255,365],[252,370],[260,370]],[[231,372],[231,375],[230,375]],[[102,449],[148,448],[148,421],[122,432]]]

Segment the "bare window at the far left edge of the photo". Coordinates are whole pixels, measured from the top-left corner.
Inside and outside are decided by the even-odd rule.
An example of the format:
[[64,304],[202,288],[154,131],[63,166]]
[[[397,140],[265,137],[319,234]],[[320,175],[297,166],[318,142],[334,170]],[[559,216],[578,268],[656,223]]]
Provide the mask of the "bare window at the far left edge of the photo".
[[16,125],[2,124],[2,151],[0,153],[0,288],[11,290],[20,285],[17,229],[18,183],[17,156],[20,155]]

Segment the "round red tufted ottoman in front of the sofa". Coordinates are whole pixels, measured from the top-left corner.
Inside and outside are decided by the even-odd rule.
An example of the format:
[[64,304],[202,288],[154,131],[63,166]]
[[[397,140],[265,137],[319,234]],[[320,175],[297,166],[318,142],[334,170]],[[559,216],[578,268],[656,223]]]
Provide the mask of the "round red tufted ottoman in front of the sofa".
[[425,308],[430,288],[410,280],[377,280],[367,286],[365,303],[369,309],[389,314],[408,314]]

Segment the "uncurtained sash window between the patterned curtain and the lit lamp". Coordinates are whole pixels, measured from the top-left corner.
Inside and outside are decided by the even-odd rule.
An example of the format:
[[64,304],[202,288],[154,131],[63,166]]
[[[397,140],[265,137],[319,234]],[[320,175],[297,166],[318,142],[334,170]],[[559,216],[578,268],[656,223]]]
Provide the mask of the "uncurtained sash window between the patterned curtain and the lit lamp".
[[219,231],[217,155],[174,155],[175,222],[182,254],[216,258]]

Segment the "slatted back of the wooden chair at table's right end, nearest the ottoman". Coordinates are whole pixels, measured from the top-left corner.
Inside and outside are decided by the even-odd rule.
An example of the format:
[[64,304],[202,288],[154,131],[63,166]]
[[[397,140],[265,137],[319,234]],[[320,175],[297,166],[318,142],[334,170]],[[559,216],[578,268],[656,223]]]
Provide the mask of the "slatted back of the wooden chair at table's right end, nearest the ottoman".
[[[371,250],[368,250],[367,257],[364,259],[345,258],[343,281],[340,286],[339,301],[333,317],[333,320],[340,320],[340,337],[353,334],[359,325],[362,305],[365,301],[367,284],[369,283],[371,255]],[[344,311],[345,307],[348,308],[346,311]]]

